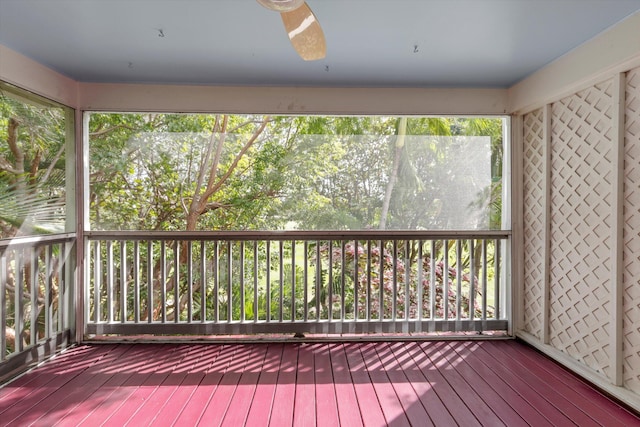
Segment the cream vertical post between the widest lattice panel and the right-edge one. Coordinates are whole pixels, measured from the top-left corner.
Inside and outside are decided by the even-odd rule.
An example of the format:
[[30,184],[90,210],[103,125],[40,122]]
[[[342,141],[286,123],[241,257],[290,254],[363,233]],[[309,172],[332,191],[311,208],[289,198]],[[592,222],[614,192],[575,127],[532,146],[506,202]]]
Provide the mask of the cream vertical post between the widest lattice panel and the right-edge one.
[[624,377],[623,328],[623,228],[624,228],[624,136],[625,136],[626,74],[618,73],[613,79],[612,114],[612,189],[611,194],[611,382],[622,386]]

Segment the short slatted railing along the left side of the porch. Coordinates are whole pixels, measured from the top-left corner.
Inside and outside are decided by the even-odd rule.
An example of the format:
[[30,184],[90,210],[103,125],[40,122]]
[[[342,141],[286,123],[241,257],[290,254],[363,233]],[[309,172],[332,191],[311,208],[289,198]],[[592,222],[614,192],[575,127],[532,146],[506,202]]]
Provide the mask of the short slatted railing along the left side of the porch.
[[71,343],[75,234],[0,241],[0,378]]

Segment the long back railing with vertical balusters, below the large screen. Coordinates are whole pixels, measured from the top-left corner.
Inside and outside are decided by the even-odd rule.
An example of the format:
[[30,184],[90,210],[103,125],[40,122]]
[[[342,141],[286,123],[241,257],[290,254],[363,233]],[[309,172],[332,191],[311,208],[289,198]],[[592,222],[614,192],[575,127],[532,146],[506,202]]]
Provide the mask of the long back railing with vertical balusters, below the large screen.
[[85,235],[89,335],[479,332],[508,325],[506,231]]

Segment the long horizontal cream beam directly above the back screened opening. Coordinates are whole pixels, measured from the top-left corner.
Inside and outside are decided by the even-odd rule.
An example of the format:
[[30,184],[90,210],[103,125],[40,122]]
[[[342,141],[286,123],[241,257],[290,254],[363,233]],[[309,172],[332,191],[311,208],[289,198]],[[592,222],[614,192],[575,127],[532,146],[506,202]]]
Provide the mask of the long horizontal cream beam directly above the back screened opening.
[[329,115],[505,115],[506,89],[80,84],[90,111]]

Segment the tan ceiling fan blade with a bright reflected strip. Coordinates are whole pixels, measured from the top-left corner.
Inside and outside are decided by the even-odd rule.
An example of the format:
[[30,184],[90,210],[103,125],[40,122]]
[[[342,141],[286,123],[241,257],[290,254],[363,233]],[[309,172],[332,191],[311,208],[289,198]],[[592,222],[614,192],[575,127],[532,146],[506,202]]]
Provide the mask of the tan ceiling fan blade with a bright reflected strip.
[[291,44],[302,59],[314,61],[327,55],[324,33],[307,3],[294,10],[281,12],[280,16]]

